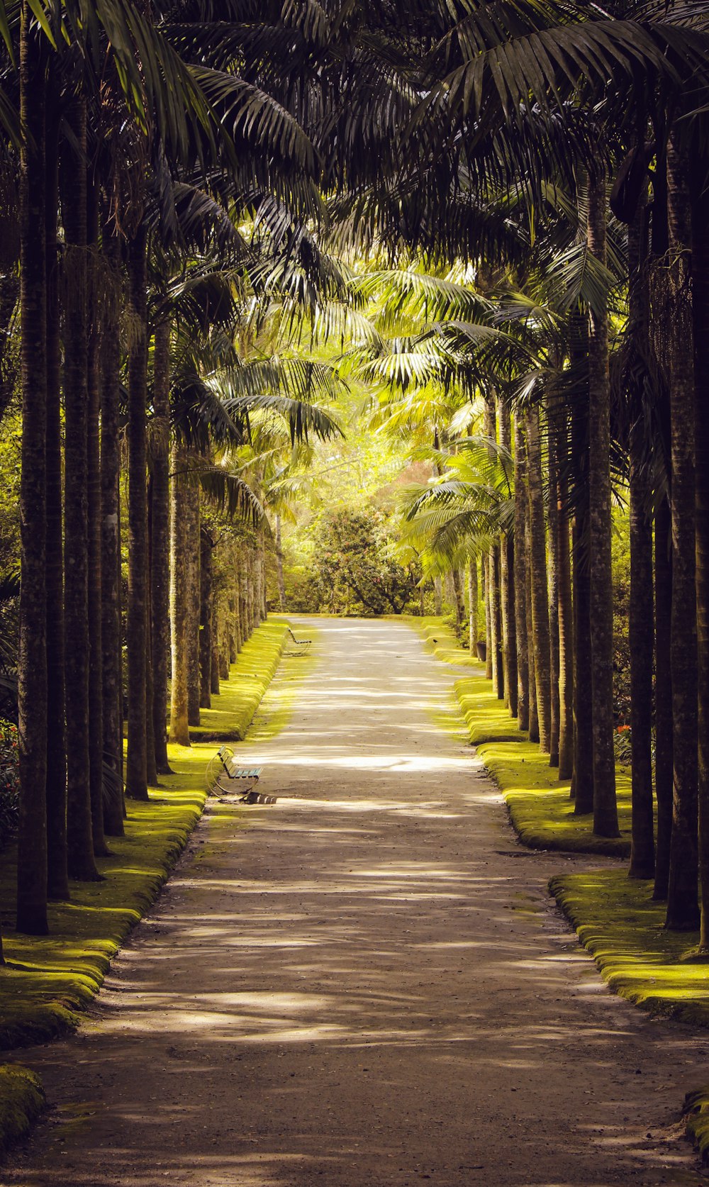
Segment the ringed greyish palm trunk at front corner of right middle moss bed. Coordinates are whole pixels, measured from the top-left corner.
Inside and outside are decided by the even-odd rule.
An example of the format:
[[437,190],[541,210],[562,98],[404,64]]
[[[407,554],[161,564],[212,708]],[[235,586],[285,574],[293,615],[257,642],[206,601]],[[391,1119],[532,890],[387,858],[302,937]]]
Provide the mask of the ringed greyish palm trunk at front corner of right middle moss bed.
[[[606,172],[589,172],[588,246],[606,264]],[[608,310],[589,312],[588,490],[591,624],[594,832],[618,837],[613,749],[613,571],[610,550],[610,382]]]

